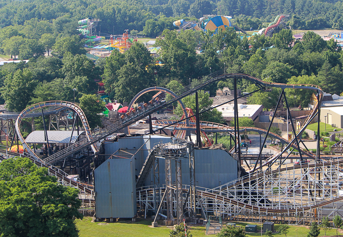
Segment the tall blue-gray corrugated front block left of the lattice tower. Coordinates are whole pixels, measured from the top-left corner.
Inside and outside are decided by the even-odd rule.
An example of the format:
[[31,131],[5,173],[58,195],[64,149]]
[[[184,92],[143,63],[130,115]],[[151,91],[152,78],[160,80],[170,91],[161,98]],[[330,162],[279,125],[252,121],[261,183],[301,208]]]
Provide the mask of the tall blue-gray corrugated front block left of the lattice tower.
[[107,159],[94,172],[97,218],[132,218],[137,213],[135,159]]

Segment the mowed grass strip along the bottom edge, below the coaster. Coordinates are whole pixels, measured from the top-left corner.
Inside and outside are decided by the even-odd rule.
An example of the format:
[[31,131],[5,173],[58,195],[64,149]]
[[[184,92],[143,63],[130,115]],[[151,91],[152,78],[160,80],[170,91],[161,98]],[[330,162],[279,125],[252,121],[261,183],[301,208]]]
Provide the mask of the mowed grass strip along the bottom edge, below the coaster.
[[[76,220],[76,226],[80,230],[80,237],[169,237],[169,232],[172,230],[170,227],[151,227],[151,220],[140,219],[137,222],[119,221],[116,223],[91,222],[92,217],[84,217],[83,220]],[[249,222],[235,222],[237,225],[245,226],[247,224],[257,224],[259,233],[246,233],[249,236],[261,236],[261,223]],[[160,224],[160,223],[159,223]],[[275,230],[279,227],[275,224]],[[193,237],[205,237],[206,227],[196,226],[190,227]],[[304,237],[309,232],[309,229],[304,226],[289,226],[289,233],[287,237]],[[275,237],[278,233],[273,233]],[[329,229],[326,232],[327,236],[336,236],[336,229]],[[215,236],[215,235],[211,235]],[[262,236],[266,236],[262,234]],[[320,235],[324,236],[324,230],[320,230]]]

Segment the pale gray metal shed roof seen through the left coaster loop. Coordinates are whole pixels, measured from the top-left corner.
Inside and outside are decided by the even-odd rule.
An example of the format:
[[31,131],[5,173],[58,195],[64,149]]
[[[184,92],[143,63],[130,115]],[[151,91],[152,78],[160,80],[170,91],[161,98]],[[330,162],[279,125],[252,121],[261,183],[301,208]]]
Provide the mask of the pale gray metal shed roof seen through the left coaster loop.
[[[72,136],[72,143],[74,143],[77,139],[77,131],[47,131],[48,132],[48,140],[49,143],[69,143],[70,137]],[[81,135],[85,131],[79,131]],[[27,143],[46,143],[44,131],[36,130],[28,134],[25,141]]]

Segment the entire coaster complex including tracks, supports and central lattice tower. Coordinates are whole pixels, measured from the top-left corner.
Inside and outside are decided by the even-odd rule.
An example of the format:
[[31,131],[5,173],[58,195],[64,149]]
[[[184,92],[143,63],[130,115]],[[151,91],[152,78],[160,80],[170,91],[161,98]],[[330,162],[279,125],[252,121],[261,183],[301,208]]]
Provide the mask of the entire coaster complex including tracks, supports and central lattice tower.
[[[276,113],[274,113],[272,116],[268,130],[240,127],[238,124],[237,112],[235,113],[235,126],[233,128],[215,123],[200,122],[198,119],[199,113],[205,112],[206,110],[199,111],[198,108],[196,109],[195,115],[192,115],[192,113],[189,111],[187,112],[187,109],[184,108],[186,110],[184,110],[184,118],[179,121],[151,122],[150,134],[157,131],[163,131],[165,129],[180,131],[186,130],[186,132],[175,132],[175,134],[180,134],[180,138],[175,138],[174,145],[156,145],[154,152],[150,153],[155,155],[149,155],[147,157],[147,160],[142,167],[140,177],[137,179],[136,183],[137,202],[140,206],[140,209],[152,211],[156,214],[155,216],[158,216],[158,213],[167,211],[168,219],[173,219],[173,216],[175,216],[178,220],[180,220],[185,213],[189,213],[191,216],[196,216],[197,213],[200,213],[204,218],[207,218],[206,216],[209,214],[215,213],[221,213],[221,215],[226,217],[230,216],[230,218],[234,217],[248,219],[258,219],[261,217],[261,215],[276,216],[276,218],[282,218],[282,216],[285,218],[285,216],[287,216],[288,221],[295,221],[297,223],[300,221],[308,222],[314,218],[318,218],[318,212],[321,207],[331,203],[339,202],[343,199],[341,196],[341,183],[343,182],[343,172],[341,167],[343,165],[343,159],[340,157],[332,159],[320,157],[319,136],[317,141],[318,149],[316,155],[300,149],[299,140],[302,132],[317,115],[318,117],[320,115],[320,102],[322,100],[323,92],[319,86],[315,85],[286,85],[270,83],[252,77],[242,71],[228,72],[221,70],[211,73],[211,75],[204,77],[195,84],[185,86],[176,93],[171,92],[170,94],[172,94],[173,98],[169,101],[150,101],[141,107],[129,110],[130,112],[127,112],[120,121],[107,126],[104,131],[99,132],[98,134],[91,133],[87,118],[85,117],[82,109],[80,109],[77,105],[63,101],[42,102],[23,110],[16,120],[16,133],[27,152],[25,151],[24,154],[19,154],[11,151],[0,151],[0,153],[2,153],[2,159],[10,156],[27,156],[35,164],[42,167],[47,167],[49,169],[49,173],[57,176],[62,181],[62,184],[68,184],[78,188],[80,190],[80,198],[82,200],[89,201],[91,205],[91,199],[94,198],[94,193],[91,189],[92,187],[87,184],[75,182],[69,179],[67,177],[67,173],[55,167],[54,164],[57,164],[58,162],[65,160],[68,156],[71,156],[76,152],[90,146],[92,146],[95,156],[97,156],[98,141],[105,139],[109,135],[118,132],[120,129],[128,127],[130,124],[133,124],[134,122],[139,121],[146,116],[151,116],[152,113],[160,110],[161,108],[165,108],[175,102],[180,102],[182,98],[188,95],[196,93],[197,98],[197,91],[208,85],[211,85],[212,83],[227,79],[234,80],[236,92],[236,81],[238,78],[249,80],[258,86],[258,90],[270,91],[274,87],[282,90],[275,110],[277,110],[279,107],[281,98],[284,97],[295,135],[293,140],[287,141],[276,134],[270,133],[270,127]],[[317,93],[317,103],[305,121],[303,127],[300,128],[297,133],[294,129],[292,116],[287,103],[287,98],[285,96],[284,89],[286,88],[309,89]],[[152,88],[148,88],[147,90],[152,90]],[[162,90],[165,89],[162,88]],[[142,93],[144,92],[145,91]],[[142,93],[139,93],[133,99],[133,101],[136,101],[137,98],[142,95]],[[236,108],[238,98],[240,97],[237,97],[237,93],[235,93],[234,104]],[[229,101],[225,103],[228,102]],[[198,101],[196,99],[196,104],[197,103]],[[130,103],[130,106],[132,106],[132,104],[133,102]],[[51,154],[47,158],[41,159],[37,154],[35,154],[34,151],[32,151],[30,146],[26,144],[25,139],[21,134],[21,123],[24,118],[30,116],[33,117],[35,115],[38,116],[39,113],[35,112],[36,109],[41,109],[42,111],[48,112],[49,109],[53,111],[62,108],[68,108],[75,111],[76,118],[80,119],[84,129],[86,130],[87,139],[70,144],[67,148]],[[236,111],[238,110],[236,109]],[[196,117],[196,119],[191,119],[194,117]],[[230,183],[221,185],[217,188],[209,189],[206,187],[197,187],[195,179],[196,158],[194,157],[194,149],[199,149],[203,146],[201,133],[206,133],[209,131],[228,131],[234,138],[237,138],[240,137],[240,132],[242,132],[242,129],[265,133],[266,137],[263,145],[266,142],[267,136],[274,136],[284,143],[285,147],[282,151],[267,158],[267,162],[263,162],[261,153],[264,146],[261,146],[260,155],[257,157],[255,166],[253,168],[250,167],[247,174],[243,177],[239,177],[237,180],[231,181]],[[187,137],[187,132],[190,132],[191,130],[196,130],[196,144],[183,139],[183,137]],[[194,146],[196,146],[196,148]],[[300,162],[300,165],[298,166],[294,166],[293,164],[287,164],[286,167],[281,166],[284,160],[287,158],[286,157],[283,160],[282,154],[290,147],[300,151],[299,156],[301,160],[303,159],[302,155],[306,155],[312,158],[313,161],[310,161],[306,164],[302,164]],[[182,154],[182,157],[172,156],[171,152],[174,151],[176,151],[175,154]],[[239,141],[235,142],[234,148],[229,151],[229,153],[238,160],[239,164],[241,164],[242,157]],[[157,184],[157,186],[155,185],[153,187],[142,187],[144,184],[144,177],[151,172],[151,164],[154,164],[151,160],[156,159],[156,157],[164,158],[166,162],[169,162],[169,164],[166,163],[166,167],[170,167],[172,164],[171,162],[175,162],[176,167],[178,167],[177,163],[179,163],[180,167],[181,158],[189,159],[191,185],[182,185],[182,183],[177,180],[176,184],[172,184],[171,170],[167,169],[170,178],[167,177],[168,175],[166,176],[166,184],[170,184],[169,186],[167,185],[163,187]],[[271,163],[275,164],[279,158],[279,166],[277,169],[273,170]],[[95,165],[98,166],[99,164],[97,164],[96,159],[94,161]],[[156,170],[154,169],[154,171]],[[177,173],[175,177],[181,177],[181,170],[176,169],[176,171]],[[172,191],[173,189],[176,190],[176,195],[172,194],[174,192]],[[159,201],[156,201],[156,197],[159,198]],[[164,207],[164,210],[161,209],[162,206]]]

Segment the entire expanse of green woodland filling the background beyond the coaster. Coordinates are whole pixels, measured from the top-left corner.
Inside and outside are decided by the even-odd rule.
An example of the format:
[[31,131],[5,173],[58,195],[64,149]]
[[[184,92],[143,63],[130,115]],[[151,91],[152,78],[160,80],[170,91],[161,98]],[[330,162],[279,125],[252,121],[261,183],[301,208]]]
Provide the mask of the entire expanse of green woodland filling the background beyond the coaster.
[[[325,92],[341,94],[343,53],[333,39],[324,41],[319,35],[308,32],[303,41],[298,42],[287,29],[271,38],[255,35],[249,39],[241,39],[232,27],[220,29],[217,34],[173,30],[174,20],[196,19],[209,13],[232,15],[236,24],[244,27],[256,24],[253,28],[261,27],[261,22],[272,21],[276,12],[291,13],[288,23],[297,28],[311,24],[313,28],[337,27],[340,22],[336,12],[341,9],[341,1],[243,2],[1,1],[0,54],[29,59],[29,62],[0,67],[0,102],[6,103],[9,110],[22,111],[41,101],[73,101],[73,88],[76,88],[75,101],[94,105],[88,111],[96,115],[103,108],[103,105],[95,106],[98,100],[94,95],[98,89],[96,81],[104,82],[111,99],[130,102],[148,86],[165,86],[177,91],[224,68],[270,82],[320,85]],[[245,7],[247,5],[253,7]],[[294,9],[289,8],[293,5]],[[135,29],[147,36],[162,35],[164,38],[159,38],[155,44],[161,48],[157,55],[151,56],[144,44],[134,43],[125,53],[114,50],[106,59],[93,62],[86,57],[83,42],[75,31],[77,20],[88,16],[101,19],[101,32],[121,34],[124,29]],[[317,23],[313,23],[315,21]],[[201,49],[202,53],[197,53],[196,49]],[[50,57],[44,56],[46,51],[51,52]],[[162,64],[156,65],[156,62]],[[222,81],[205,89],[214,96],[216,89],[223,86],[233,88],[231,81]],[[245,80],[239,80],[238,86],[244,92],[256,89]],[[289,103],[295,107],[306,107],[309,93],[286,91]],[[208,95],[200,94],[204,108],[210,107],[211,103],[205,103]],[[262,104],[270,109],[275,106],[279,94],[278,89],[257,92],[248,98],[248,103]],[[192,107],[193,99],[185,99],[185,103],[187,100],[187,106]],[[204,114],[207,117],[203,119],[220,122],[217,115]],[[95,123],[91,127],[100,124],[96,117],[92,120]]]

